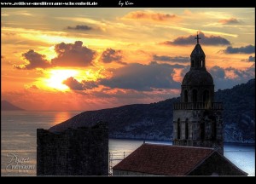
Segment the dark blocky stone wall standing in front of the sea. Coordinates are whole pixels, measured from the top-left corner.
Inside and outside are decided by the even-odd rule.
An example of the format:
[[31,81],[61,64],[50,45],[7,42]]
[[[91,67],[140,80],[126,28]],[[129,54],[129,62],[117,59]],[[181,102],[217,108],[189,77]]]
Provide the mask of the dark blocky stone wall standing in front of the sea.
[[37,175],[108,175],[108,124],[37,129]]

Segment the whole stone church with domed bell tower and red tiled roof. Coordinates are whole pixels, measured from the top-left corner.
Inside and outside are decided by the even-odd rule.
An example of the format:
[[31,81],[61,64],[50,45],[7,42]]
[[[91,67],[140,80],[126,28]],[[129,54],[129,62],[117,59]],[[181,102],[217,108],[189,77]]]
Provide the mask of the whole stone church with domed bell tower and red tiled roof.
[[197,44],[174,104],[171,145],[143,144],[113,166],[113,175],[243,175],[224,157],[223,106],[214,102],[214,83],[206,55]]

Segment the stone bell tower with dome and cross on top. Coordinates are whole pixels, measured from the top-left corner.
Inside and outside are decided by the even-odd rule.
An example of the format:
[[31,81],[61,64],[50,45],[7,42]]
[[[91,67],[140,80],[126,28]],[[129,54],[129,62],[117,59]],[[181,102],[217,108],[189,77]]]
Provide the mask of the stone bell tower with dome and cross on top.
[[181,85],[181,102],[173,105],[173,145],[223,149],[222,103],[214,102],[214,83],[207,72],[199,39],[190,55],[190,70]]

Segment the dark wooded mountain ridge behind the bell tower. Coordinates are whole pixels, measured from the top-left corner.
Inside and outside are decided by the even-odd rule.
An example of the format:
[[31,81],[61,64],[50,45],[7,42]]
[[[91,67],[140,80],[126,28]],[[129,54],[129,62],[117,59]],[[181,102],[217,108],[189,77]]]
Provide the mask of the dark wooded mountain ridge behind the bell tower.
[[[219,89],[215,101],[224,104],[224,141],[255,142],[255,78],[232,89]],[[82,112],[50,131],[109,123],[110,138],[172,140],[172,104],[180,97],[151,104],[133,104]]]

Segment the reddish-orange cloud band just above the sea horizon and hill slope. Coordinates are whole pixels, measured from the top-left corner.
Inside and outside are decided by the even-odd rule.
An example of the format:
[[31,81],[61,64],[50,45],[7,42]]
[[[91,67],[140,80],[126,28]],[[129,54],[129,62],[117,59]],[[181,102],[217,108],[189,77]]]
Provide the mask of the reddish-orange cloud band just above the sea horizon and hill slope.
[[90,111],[133,103],[152,103],[179,95],[179,89],[137,91],[132,89],[94,89],[92,91],[48,91],[23,89],[3,91],[3,99],[28,111]]

